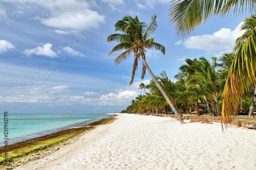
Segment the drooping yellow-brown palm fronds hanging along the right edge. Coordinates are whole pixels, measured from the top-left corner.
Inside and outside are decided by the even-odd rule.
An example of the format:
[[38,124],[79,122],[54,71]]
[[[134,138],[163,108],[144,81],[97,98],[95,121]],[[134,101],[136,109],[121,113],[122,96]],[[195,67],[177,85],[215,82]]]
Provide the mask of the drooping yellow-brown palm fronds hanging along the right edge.
[[242,30],[246,32],[237,41],[234,55],[223,91],[222,121],[228,124],[231,113],[239,108],[239,100],[256,84],[256,17],[245,19]]

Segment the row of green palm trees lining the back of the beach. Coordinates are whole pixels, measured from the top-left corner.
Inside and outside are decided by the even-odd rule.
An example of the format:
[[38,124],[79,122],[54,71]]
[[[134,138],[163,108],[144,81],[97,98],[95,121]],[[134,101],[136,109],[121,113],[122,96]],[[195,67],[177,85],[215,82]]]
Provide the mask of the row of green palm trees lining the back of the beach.
[[[191,104],[197,107],[198,103],[206,103],[206,109],[210,115],[221,116],[222,93],[233,59],[233,53],[223,54],[218,61],[216,57],[212,57],[210,61],[204,57],[187,58],[186,64],[181,65],[179,72],[175,75],[177,82],[169,79],[165,71],[161,71],[160,76],[156,78],[179,114],[188,112]],[[140,94],[132,100],[131,105],[126,110],[122,110],[123,113],[166,114],[171,111],[153,80],[147,85],[142,82],[139,89],[143,89],[145,94]],[[250,106],[251,93],[253,88],[249,94],[243,96],[244,99],[237,111]]]

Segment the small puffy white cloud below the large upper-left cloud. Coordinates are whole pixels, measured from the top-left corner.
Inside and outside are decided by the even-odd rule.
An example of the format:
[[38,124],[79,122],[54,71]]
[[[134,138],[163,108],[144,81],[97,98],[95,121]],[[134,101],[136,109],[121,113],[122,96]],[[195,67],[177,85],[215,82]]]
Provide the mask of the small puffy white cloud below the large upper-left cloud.
[[53,52],[51,48],[52,48],[52,44],[46,43],[42,47],[38,46],[33,49],[27,49],[23,53],[26,54],[27,56],[35,54],[35,55],[42,55],[42,56],[47,56],[51,58],[58,57],[57,54]]

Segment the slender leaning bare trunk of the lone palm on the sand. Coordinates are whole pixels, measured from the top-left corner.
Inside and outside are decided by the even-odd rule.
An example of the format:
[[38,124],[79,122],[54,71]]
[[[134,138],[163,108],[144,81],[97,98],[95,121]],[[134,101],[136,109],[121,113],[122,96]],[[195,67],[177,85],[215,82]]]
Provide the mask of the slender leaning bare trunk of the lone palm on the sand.
[[145,57],[144,57],[144,56],[141,56],[141,58],[142,58],[143,64],[144,64],[144,66],[146,67],[148,73],[149,73],[149,74],[151,75],[151,77],[153,78],[155,84],[157,85],[157,87],[159,88],[159,90],[162,92],[164,98],[166,99],[166,101],[168,102],[168,104],[170,105],[170,107],[173,109],[174,114],[175,114],[176,117],[178,118],[180,124],[181,124],[181,125],[186,124],[186,123],[182,120],[181,116],[179,115],[177,109],[174,107],[173,103],[170,102],[170,99],[168,98],[168,96],[167,96],[167,94],[164,92],[164,90],[162,89],[161,85],[160,85],[159,82],[157,81],[157,78],[155,77],[155,75],[154,75],[153,72],[151,71],[150,67],[148,67],[148,65],[147,65],[147,63],[146,63],[146,60],[145,60]]

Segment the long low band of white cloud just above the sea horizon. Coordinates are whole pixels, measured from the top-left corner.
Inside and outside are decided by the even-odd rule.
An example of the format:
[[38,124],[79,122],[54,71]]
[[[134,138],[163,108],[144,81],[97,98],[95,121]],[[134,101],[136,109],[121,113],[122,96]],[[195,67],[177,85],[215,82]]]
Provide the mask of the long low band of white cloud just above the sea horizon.
[[[150,80],[144,80],[146,85]],[[84,95],[98,94],[98,92],[84,92],[84,95],[76,95],[68,85],[31,85],[8,87],[8,90],[0,93],[1,103],[23,103],[24,105],[40,106],[70,106],[70,105],[91,105],[91,106],[128,106],[138,96],[139,84],[134,82],[131,86],[116,88],[108,94],[99,98],[86,98]],[[103,92],[103,91],[101,91]]]

